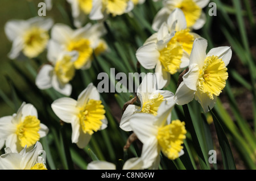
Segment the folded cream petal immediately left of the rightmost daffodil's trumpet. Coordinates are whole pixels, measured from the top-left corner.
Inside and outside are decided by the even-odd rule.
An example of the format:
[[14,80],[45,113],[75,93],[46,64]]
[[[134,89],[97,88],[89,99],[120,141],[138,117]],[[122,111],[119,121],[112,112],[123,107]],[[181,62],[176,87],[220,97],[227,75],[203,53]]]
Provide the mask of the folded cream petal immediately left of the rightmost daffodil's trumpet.
[[183,75],[183,82],[189,89],[196,91],[199,74],[200,70],[197,64],[189,65],[188,72]]

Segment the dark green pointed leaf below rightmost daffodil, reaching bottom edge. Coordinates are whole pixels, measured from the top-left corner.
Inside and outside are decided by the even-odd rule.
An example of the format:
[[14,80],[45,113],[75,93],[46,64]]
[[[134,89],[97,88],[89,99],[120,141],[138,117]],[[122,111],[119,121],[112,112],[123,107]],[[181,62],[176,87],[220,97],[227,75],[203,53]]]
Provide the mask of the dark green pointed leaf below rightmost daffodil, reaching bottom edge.
[[[210,110],[210,108],[209,108],[209,110]],[[226,137],[225,131],[222,128],[220,121],[217,119],[217,117],[212,112],[212,110],[210,110],[210,113],[212,114],[213,123],[216,128],[224,169],[236,170],[236,163],[234,162],[233,153],[230,148],[229,141],[228,141],[228,138]],[[223,123],[223,121],[222,121],[222,123]]]

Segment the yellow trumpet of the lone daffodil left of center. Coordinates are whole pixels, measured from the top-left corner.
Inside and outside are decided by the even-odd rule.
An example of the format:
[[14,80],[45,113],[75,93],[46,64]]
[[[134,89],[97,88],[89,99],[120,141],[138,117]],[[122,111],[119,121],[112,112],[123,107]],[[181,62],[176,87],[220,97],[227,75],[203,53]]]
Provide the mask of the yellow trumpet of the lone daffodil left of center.
[[84,133],[93,134],[97,132],[101,125],[102,119],[105,118],[104,106],[101,104],[101,100],[90,99],[85,108],[81,108],[80,111],[80,125]]

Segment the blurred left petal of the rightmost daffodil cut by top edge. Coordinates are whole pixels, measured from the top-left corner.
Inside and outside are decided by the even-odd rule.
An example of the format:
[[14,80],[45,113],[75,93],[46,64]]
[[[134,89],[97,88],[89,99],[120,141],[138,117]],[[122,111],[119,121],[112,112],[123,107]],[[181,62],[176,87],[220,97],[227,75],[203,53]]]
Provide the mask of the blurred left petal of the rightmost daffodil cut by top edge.
[[160,11],[156,13],[155,18],[153,19],[152,29],[154,31],[158,31],[162,23],[167,21],[170,13],[171,11],[166,7],[163,7],[162,9],[160,9]]

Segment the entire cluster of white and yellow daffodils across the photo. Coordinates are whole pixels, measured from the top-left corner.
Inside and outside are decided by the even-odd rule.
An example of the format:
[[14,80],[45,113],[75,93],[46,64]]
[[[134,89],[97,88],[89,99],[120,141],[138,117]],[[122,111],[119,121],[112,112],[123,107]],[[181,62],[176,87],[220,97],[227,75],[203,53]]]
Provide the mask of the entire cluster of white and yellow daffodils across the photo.
[[[148,0],[150,1],[150,0]],[[155,2],[158,0],[154,0]],[[52,2],[47,0],[47,9]],[[89,83],[77,99],[71,98],[72,79],[77,70],[87,70],[95,57],[110,50],[104,36],[104,21],[109,16],[128,13],[145,0],[67,0],[73,25],[54,23],[51,18],[34,17],[10,20],[5,33],[12,47],[10,59],[36,58],[46,53],[35,85],[40,90],[60,92],[52,111],[61,123],[71,124],[71,141],[84,149],[95,132],[108,127],[101,95]],[[122,169],[159,169],[161,155],[175,160],[184,154],[187,131],[184,120],[173,119],[172,110],[193,99],[204,112],[214,107],[228,79],[226,66],[232,57],[230,47],[212,48],[207,40],[193,32],[204,26],[203,8],[209,0],[163,0],[163,8],[152,22],[155,31],[135,52],[147,73],[139,85],[135,100],[123,111],[119,128],[133,132],[142,142],[141,155],[129,158]],[[88,22],[88,23],[85,23]],[[167,90],[171,76],[180,74],[175,92]],[[49,129],[39,120],[36,108],[23,103],[11,116],[0,118],[0,169],[46,170],[45,151],[40,139]],[[51,121],[51,120],[48,120]],[[114,163],[93,161],[92,169],[116,169]]]

